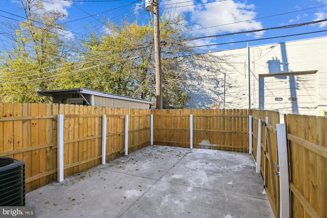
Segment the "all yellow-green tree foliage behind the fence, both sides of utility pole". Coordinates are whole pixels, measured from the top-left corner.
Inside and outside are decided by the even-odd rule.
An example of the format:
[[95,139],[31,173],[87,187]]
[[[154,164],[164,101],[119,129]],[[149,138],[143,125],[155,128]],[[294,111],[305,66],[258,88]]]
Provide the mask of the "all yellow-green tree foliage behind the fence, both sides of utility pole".
[[[47,11],[44,0],[20,0],[26,21],[12,36],[12,49],[0,54],[0,100],[45,102],[37,90],[88,88],[155,100],[153,20],[146,25],[127,20],[116,26],[106,20],[106,32],[97,31],[67,44],[59,11]],[[183,74],[172,68],[175,57],[194,51],[182,39],[188,32],[183,17],[160,19],[164,107],[183,108]],[[155,104],[155,103],[154,103]]]

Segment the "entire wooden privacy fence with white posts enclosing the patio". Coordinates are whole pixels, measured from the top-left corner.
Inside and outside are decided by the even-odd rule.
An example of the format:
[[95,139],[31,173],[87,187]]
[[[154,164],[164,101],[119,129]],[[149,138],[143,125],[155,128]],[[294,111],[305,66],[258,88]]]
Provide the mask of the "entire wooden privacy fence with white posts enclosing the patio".
[[275,217],[326,217],[327,118],[278,123],[263,110],[0,103],[0,156],[25,161],[30,191],[150,144],[249,152]]

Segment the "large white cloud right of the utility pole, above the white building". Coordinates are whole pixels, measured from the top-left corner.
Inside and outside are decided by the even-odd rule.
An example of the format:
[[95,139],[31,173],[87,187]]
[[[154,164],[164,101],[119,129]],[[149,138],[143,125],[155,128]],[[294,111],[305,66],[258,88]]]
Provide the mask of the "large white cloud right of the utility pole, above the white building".
[[[174,3],[174,5],[172,5]],[[228,32],[239,32],[247,30],[262,29],[261,22],[253,20],[256,16],[255,6],[246,2],[234,2],[226,0],[222,2],[202,1],[203,4],[196,4],[187,0],[169,1],[166,8],[175,7],[174,12],[184,13],[191,23],[195,23],[194,29],[198,34],[211,35]],[[264,32],[254,34],[254,37],[261,37]]]

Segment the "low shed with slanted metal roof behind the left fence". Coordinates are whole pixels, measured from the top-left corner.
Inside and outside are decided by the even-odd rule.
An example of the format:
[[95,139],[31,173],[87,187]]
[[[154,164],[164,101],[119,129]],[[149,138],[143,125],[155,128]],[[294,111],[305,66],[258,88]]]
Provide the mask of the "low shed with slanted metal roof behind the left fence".
[[39,95],[52,98],[53,103],[78,104],[105,107],[149,109],[152,102],[118,94],[109,94],[85,88],[37,91]]

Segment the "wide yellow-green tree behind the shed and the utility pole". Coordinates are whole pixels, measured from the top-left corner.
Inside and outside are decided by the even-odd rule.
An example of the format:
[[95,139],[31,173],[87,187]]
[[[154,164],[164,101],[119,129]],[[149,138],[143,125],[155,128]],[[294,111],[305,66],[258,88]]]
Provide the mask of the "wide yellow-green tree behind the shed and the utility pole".
[[[160,19],[162,81],[165,105],[182,108],[187,99],[181,89],[183,74],[177,74],[172,65],[175,57],[194,54],[185,37],[184,19],[161,16]],[[114,94],[155,100],[155,63],[153,25],[150,21],[138,25],[125,21],[116,26],[106,21],[107,32],[96,32],[81,40],[78,78],[59,77],[66,81],[64,88],[85,87]],[[60,83],[60,82],[58,82]],[[69,86],[70,84],[70,86]],[[68,85],[68,86],[66,86]]]

